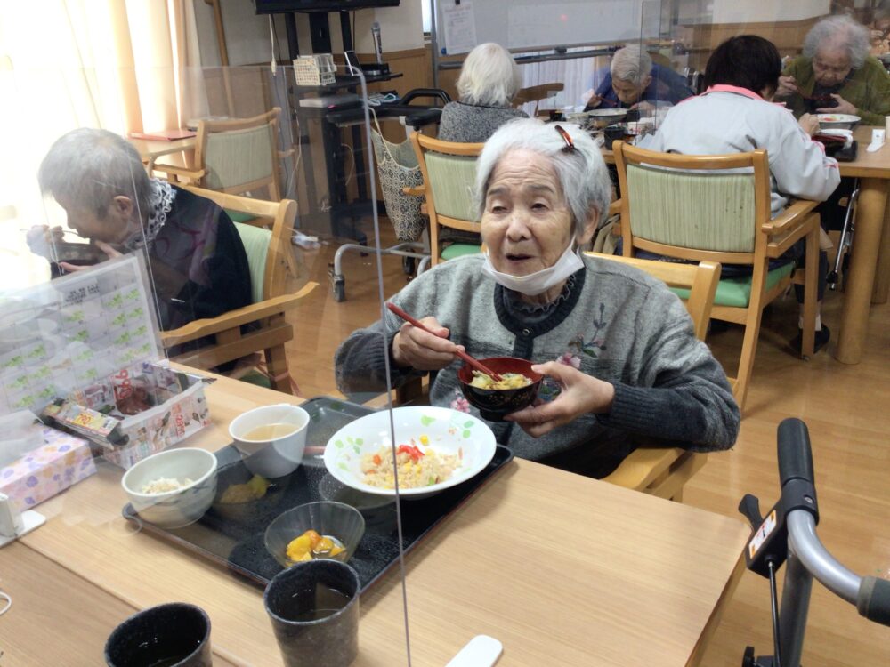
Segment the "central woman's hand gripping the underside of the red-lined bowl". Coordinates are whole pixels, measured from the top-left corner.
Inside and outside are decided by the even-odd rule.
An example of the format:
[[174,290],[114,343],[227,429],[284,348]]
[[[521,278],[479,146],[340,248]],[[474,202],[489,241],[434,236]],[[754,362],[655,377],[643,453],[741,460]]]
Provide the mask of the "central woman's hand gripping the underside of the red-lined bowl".
[[506,421],[516,422],[532,438],[540,438],[582,414],[605,413],[611,408],[615,388],[609,382],[555,361],[531,366],[531,370],[554,378],[562,389],[560,395],[549,403],[529,406],[506,415]]

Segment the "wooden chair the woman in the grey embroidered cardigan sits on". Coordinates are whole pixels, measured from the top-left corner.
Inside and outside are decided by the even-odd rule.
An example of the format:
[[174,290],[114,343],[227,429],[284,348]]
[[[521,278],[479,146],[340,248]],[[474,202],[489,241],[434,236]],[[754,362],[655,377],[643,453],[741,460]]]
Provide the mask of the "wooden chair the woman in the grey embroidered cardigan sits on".
[[[686,310],[692,317],[695,337],[705,340],[714,294],[720,281],[720,265],[712,261],[679,264],[671,261],[638,260],[632,257],[586,253],[603,260],[618,261],[641,269],[667,283],[668,287],[687,290]],[[690,452],[680,447],[638,447],[619,467],[603,478],[618,486],[681,502],[683,487],[707,462],[708,454]]]

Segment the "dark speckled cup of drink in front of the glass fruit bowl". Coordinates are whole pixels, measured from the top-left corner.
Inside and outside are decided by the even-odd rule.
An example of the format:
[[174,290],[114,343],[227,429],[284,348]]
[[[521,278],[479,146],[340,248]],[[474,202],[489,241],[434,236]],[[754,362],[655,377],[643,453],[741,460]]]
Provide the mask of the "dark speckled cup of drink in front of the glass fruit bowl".
[[338,560],[279,572],[263,604],[287,667],[346,667],[359,654],[359,574]]

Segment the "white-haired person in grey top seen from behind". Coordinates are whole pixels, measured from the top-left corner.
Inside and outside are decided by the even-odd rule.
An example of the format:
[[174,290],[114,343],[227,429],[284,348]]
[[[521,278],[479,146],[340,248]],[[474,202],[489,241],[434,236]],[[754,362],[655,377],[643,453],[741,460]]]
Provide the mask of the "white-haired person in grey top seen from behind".
[[442,108],[439,139],[481,143],[507,121],[527,118],[524,111],[511,107],[520,88],[522,76],[510,52],[493,42],[479,44],[460,69],[460,100]]

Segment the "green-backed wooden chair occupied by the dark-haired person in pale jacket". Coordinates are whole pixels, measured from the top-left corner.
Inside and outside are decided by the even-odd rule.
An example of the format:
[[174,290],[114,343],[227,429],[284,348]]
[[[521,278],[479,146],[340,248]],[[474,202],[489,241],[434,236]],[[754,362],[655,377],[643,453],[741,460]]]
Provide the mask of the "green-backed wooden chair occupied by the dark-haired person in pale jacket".
[[[794,280],[805,286],[803,357],[813,355],[819,255],[815,202],[799,200],[770,218],[770,171],[764,149],[684,156],[613,145],[621,186],[624,254],[638,250],[682,260],[745,264],[750,277],[724,278],[711,317],[745,326],[732,390],[744,409],[763,309]],[[729,170],[729,171],[727,171]],[[804,277],[789,263],[769,270],[806,238]],[[681,294],[682,295],[682,294]]]

